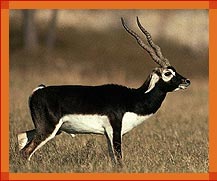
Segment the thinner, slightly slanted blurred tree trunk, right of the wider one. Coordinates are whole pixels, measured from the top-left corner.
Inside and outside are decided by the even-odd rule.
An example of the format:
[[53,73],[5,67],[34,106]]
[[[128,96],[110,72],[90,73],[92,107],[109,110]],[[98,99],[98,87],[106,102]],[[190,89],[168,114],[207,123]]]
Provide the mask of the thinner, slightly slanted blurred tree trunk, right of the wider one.
[[46,40],[46,47],[48,51],[52,50],[56,40],[56,25],[57,25],[57,14],[58,10],[52,10],[50,23],[48,25],[48,34]]

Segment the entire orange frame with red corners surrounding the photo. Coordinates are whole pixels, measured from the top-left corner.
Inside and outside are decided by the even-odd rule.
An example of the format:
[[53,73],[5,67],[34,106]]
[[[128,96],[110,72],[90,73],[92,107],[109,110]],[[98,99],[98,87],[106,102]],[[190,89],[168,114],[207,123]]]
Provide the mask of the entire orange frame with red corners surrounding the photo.
[[[1,2],[2,5],[2,2]],[[210,19],[210,168],[209,173],[196,174],[44,174],[9,173],[9,9],[209,9]],[[214,180],[217,179],[217,123],[215,122],[215,103],[217,100],[217,8],[216,3],[208,1],[7,1],[1,6],[1,179],[2,180]]]

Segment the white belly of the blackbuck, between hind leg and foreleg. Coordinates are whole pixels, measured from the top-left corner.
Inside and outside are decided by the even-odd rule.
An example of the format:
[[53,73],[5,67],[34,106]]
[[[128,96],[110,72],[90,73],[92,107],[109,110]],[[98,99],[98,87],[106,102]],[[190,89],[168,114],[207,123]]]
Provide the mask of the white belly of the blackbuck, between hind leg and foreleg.
[[72,114],[61,118],[63,124],[61,130],[70,133],[96,133],[104,134],[110,126],[107,116]]

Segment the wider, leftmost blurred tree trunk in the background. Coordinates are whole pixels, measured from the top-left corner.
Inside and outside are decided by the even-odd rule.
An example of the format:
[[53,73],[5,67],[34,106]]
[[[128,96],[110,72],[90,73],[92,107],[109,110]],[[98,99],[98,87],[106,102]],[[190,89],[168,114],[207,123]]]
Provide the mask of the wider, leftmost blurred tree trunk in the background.
[[39,47],[34,17],[35,10],[23,10],[24,49],[28,52],[35,52]]

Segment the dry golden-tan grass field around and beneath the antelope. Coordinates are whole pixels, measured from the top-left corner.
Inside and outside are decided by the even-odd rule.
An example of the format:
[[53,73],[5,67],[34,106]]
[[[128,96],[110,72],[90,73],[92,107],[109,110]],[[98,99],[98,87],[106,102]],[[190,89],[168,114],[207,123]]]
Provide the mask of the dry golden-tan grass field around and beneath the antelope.
[[[27,73],[28,72],[28,73]],[[27,99],[31,71],[11,71],[10,171],[11,172],[115,172],[103,136],[62,134],[32,157],[23,160],[16,135],[33,128]],[[33,78],[33,76],[31,76]],[[56,82],[68,76],[53,76]],[[34,79],[44,80],[43,74]],[[95,84],[107,79],[94,79]],[[81,81],[77,75],[75,82]],[[93,80],[91,80],[93,81]],[[114,78],[111,80],[114,81]],[[34,81],[33,81],[34,82]],[[82,82],[82,81],[81,81]],[[87,83],[88,81],[85,81]],[[131,83],[133,85],[134,83]],[[198,87],[200,87],[198,89]],[[207,172],[208,87],[206,80],[192,80],[186,91],[167,96],[159,112],[123,137],[124,167],[121,172]]]

